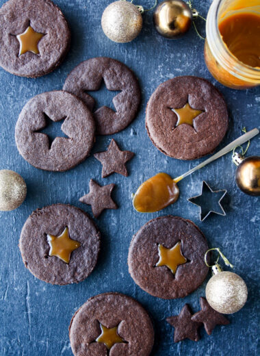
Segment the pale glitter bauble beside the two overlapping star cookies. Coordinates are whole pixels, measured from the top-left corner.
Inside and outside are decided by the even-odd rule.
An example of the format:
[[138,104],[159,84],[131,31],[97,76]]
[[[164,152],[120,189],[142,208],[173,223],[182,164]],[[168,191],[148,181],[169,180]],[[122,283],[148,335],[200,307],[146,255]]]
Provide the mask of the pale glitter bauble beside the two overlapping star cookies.
[[213,275],[206,286],[209,305],[222,314],[232,314],[244,307],[248,297],[246,283],[236,273],[222,271]]

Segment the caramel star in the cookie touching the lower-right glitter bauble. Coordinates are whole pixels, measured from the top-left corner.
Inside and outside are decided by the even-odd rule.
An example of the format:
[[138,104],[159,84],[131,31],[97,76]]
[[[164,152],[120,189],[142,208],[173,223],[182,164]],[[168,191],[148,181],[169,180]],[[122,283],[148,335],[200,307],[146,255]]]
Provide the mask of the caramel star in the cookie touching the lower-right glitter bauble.
[[163,245],[158,245],[159,261],[156,266],[166,266],[175,275],[178,266],[185,264],[187,258],[181,253],[181,242],[177,242],[172,249],[167,249]]

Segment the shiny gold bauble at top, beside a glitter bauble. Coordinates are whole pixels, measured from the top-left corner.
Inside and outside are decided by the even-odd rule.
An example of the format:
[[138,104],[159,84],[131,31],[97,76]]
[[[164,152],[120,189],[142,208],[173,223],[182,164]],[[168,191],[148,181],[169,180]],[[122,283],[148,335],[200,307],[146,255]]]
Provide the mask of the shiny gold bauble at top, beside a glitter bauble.
[[192,25],[192,10],[181,0],[168,0],[155,9],[153,20],[161,36],[177,39],[183,36]]

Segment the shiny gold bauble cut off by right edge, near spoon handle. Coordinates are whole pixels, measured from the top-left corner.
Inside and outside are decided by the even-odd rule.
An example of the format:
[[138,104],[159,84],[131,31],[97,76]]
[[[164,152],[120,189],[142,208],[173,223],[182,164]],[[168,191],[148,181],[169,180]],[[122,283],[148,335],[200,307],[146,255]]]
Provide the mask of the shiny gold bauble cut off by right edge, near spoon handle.
[[252,156],[242,158],[235,173],[235,181],[242,192],[259,196],[260,195],[260,157]]

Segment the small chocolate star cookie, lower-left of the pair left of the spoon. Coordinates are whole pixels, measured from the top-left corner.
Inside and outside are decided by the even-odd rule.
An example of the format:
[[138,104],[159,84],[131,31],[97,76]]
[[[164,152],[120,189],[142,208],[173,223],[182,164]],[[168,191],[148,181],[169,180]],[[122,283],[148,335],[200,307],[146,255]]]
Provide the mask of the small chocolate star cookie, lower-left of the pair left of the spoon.
[[99,186],[93,179],[90,179],[90,192],[81,196],[79,201],[91,205],[94,217],[98,218],[104,209],[118,208],[111,197],[115,186],[114,183],[108,184],[108,186]]

